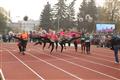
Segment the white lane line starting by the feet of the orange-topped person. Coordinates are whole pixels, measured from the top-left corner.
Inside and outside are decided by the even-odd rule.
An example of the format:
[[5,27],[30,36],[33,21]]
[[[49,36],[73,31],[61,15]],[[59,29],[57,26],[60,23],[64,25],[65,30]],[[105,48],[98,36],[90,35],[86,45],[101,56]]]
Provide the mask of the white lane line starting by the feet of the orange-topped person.
[[54,68],[56,68],[56,69],[58,69],[58,70],[60,70],[60,71],[63,71],[64,73],[66,73],[66,74],[68,74],[68,75],[70,75],[70,76],[72,76],[72,77],[74,77],[74,78],[76,78],[76,79],[78,79],[78,80],[83,80],[83,79],[79,78],[78,76],[76,76],[76,75],[74,75],[74,74],[71,74],[71,73],[68,72],[68,71],[63,70],[62,68],[59,68],[59,67],[57,67],[57,66],[55,66],[55,65],[53,65],[53,64],[51,64],[51,63],[49,63],[49,62],[47,62],[47,61],[45,61],[45,60],[42,60],[42,59],[40,59],[40,58],[38,58],[38,57],[36,57],[36,56],[28,53],[28,52],[26,52],[26,53],[27,53],[28,55],[34,57],[35,59],[40,60],[40,61],[42,61],[42,62],[44,62],[44,63],[46,63],[46,64],[48,64],[48,65],[50,65],[50,66],[52,66],[52,67],[54,67]]

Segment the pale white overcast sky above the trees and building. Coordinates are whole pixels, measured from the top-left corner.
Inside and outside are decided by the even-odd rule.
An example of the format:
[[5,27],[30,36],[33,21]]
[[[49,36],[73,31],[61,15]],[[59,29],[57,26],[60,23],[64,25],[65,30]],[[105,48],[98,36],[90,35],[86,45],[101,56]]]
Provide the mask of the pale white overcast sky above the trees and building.
[[[0,0],[0,7],[10,11],[13,21],[22,20],[25,15],[30,19],[38,20],[47,1],[54,5],[58,0]],[[68,0],[68,3],[71,1]],[[78,11],[81,2],[82,0],[76,1],[76,11]],[[96,3],[97,5],[102,5],[103,0],[96,0]]]

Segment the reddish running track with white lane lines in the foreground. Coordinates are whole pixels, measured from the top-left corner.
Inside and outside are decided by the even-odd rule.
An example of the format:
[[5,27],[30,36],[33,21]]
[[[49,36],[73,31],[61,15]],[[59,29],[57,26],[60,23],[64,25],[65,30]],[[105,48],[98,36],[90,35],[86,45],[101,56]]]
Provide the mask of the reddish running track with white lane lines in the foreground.
[[91,49],[90,55],[73,47],[49,54],[49,49],[29,43],[22,55],[15,43],[1,43],[0,68],[5,80],[120,80],[120,64],[114,63],[113,51]]

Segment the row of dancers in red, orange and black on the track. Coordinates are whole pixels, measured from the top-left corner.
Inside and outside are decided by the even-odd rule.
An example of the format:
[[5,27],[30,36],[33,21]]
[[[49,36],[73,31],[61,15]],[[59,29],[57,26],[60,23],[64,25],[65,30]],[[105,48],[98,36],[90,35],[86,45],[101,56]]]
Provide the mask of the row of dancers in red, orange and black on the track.
[[[29,39],[29,34],[25,32],[20,34],[19,36],[14,36],[14,38],[18,39],[18,48],[20,53],[23,55],[25,54],[24,51],[26,50],[26,45]],[[60,32],[56,33],[54,30],[50,29],[49,32],[42,30],[36,36],[32,38],[36,39],[35,45],[42,45],[42,49],[46,47],[48,43],[48,48],[51,48],[50,53],[54,50],[54,48],[58,49],[58,46],[61,46],[61,52],[63,49],[66,48],[66,44],[69,46],[74,44],[75,51],[78,50],[78,45],[81,45],[81,52],[90,54],[90,35],[89,33],[83,33],[78,31],[68,31],[68,30],[61,30]]]

